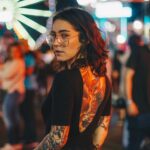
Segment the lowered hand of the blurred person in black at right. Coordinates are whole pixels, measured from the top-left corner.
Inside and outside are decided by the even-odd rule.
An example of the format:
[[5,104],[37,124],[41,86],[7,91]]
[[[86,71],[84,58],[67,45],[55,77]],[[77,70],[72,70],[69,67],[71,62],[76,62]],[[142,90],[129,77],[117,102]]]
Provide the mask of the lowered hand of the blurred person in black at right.
[[127,105],[127,113],[129,116],[137,116],[139,114],[139,110],[137,105],[134,103],[133,100],[128,100],[128,105]]

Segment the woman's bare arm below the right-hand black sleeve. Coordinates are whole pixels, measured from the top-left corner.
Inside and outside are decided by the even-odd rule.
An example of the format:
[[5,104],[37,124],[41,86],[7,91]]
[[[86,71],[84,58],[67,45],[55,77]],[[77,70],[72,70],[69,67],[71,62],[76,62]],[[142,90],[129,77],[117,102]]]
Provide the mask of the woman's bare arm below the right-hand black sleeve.
[[111,116],[101,116],[93,135],[93,144],[100,149],[107,137]]

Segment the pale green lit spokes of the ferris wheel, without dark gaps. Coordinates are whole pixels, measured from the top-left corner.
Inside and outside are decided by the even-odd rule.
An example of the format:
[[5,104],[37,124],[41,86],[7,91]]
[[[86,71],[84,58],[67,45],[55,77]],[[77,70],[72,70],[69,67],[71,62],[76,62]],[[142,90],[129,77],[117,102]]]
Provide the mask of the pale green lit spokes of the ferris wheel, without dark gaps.
[[[27,16],[24,16],[24,15],[30,15],[30,16],[49,18],[52,15],[52,12],[49,10],[26,8],[26,6],[28,5],[44,2],[45,0],[3,0],[3,1],[4,2],[2,3],[2,6],[4,5],[7,8],[7,11],[8,10],[11,11],[10,14],[12,14],[12,18],[13,18],[11,22],[10,21],[5,22],[7,29],[11,30],[14,27],[14,30],[16,31],[16,33],[18,33],[18,36],[27,39],[30,47],[34,48],[35,41],[32,38],[33,35],[30,35],[28,30],[26,30],[23,24],[21,23],[24,23],[25,25],[38,31],[39,33],[42,34],[45,33],[46,27],[42,26],[41,24],[39,24],[34,20],[31,20]],[[2,17],[2,19],[5,19],[7,17],[8,15],[4,14],[4,17]]]

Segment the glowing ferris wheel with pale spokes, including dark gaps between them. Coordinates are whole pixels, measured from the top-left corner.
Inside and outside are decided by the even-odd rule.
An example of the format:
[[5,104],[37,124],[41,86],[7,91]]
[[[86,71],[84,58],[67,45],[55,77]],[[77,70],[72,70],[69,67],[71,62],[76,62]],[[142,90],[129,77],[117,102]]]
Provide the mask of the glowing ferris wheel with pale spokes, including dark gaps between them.
[[[45,0],[0,0],[0,23],[6,24],[8,30],[13,29],[18,38],[28,40],[30,47],[35,46],[36,39],[29,29],[39,35],[46,32],[45,25],[40,19],[47,20],[52,12],[41,9],[36,5],[42,5]],[[32,19],[36,18],[36,19]]]

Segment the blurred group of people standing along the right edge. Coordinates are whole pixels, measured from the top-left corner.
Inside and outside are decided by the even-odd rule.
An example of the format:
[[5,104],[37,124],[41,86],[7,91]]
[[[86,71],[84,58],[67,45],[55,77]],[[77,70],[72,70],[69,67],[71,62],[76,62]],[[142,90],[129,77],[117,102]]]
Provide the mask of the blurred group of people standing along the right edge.
[[131,32],[127,43],[118,44],[112,59],[112,106],[123,126],[125,150],[150,149],[149,42]]

